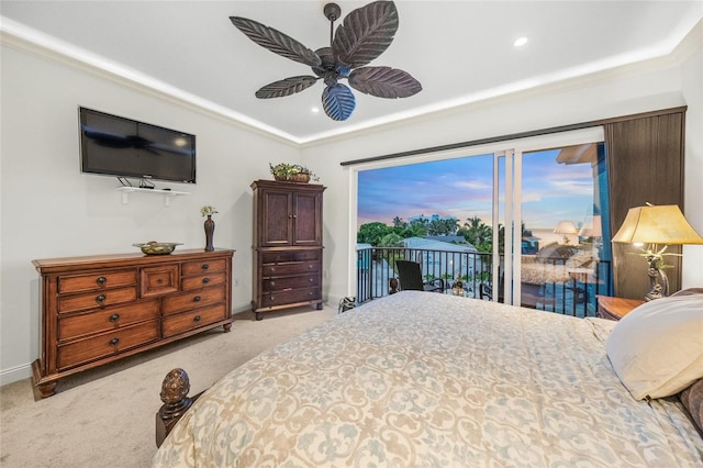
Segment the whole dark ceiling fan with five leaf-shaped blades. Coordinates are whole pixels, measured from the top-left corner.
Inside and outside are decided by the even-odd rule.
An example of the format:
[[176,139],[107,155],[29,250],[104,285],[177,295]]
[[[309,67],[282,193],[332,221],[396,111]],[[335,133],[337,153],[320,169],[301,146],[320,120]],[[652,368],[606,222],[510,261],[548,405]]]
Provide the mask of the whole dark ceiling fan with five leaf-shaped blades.
[[281,98],[310,88],[319,79],[326,85],[322,105],[333,120],[347,120],[356,107],[352,90],[339,82],[347,79],[357,91],[377,98],[408,98],[422,90],[422,85],[408,71],[391,67],[367,67],[381,55],[398,31],[398,10],[392,1],[375,1],[353,10],[335,33],[334,22],[342,14],[336,3],[324,7],[330,20],[330,47],[311,51],[300,42],[246,18],[230,16],[232,24],[248,38],[291,60],[312,67],[315,76],[303,75],[274,81],[256,91],[259,99]]

